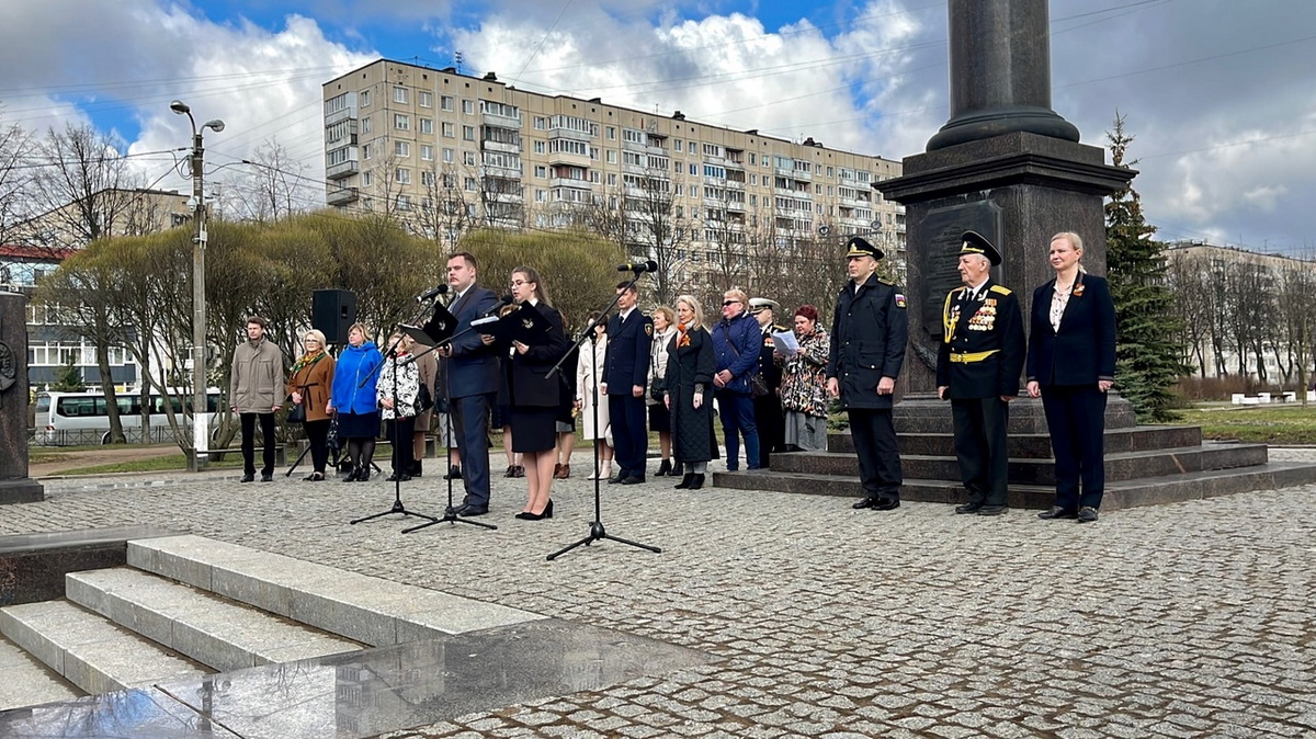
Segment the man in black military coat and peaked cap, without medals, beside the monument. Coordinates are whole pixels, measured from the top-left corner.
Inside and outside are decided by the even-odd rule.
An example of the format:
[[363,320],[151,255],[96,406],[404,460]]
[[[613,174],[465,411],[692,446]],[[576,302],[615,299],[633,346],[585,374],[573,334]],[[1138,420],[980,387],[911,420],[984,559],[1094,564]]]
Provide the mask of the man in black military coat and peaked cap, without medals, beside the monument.
[[900,448],[891,419],[896,377],[904,366],[909,317],[904,291],[878,277],[882,250],[853,237],[846,243],[850,281],[836,297],[826,391],[841,398],[859,456],[863,498],[853,508],[900,508]]

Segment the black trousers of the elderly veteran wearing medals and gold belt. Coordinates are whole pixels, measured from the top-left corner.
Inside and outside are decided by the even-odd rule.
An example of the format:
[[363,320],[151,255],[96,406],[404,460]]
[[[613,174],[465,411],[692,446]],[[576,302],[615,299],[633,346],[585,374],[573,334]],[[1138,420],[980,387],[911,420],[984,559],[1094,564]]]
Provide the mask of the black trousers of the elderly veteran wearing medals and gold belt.
[[954,398],[950,412],[955,423],[955,459],[969,502],[1009,505],[1009,450],[1005,446],[1009,404],[999,397]]

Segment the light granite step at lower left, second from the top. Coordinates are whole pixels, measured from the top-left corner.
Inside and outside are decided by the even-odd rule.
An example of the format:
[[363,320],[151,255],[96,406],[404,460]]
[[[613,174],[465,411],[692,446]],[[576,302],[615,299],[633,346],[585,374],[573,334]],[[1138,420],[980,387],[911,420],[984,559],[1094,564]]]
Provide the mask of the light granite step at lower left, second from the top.
[[70,601],[220,672],[362,648],[128,567],[72,572],[64,590]]

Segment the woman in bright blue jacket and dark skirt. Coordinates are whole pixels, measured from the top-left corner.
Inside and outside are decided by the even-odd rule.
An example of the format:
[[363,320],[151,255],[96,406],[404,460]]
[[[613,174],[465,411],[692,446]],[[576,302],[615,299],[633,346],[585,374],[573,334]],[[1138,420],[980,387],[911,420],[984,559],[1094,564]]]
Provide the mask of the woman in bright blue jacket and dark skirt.
[[343,483],[370,479],[375,438],[379,437],[375,384],[383,362],[366,326],[353,323],[347,329],[347,346],[338,355],[333,394],[329,397],[329,412],[338,412],[338,437],[347,439],[347,458],[351,460],[351,472]]

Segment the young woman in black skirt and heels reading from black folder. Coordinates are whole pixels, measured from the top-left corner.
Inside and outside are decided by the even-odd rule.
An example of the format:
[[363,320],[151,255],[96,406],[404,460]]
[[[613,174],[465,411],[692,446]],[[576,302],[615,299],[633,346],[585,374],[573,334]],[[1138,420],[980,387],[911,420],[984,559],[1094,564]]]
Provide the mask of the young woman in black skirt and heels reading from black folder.
[[[499,345],[499,354],[507,352],[508,392],[511,422],[516,429],[512,437],[512,450],[521,454],[525,467],[525,481],[529,496],[525,510],[516,514],[525,521],[553,518],[553,465],[557,462],[557,416],[562,401],[558,388],[559,379],[549,377],[549,370],[567,351],[567,338],[562,330],[562,314],[549,305],[547,295],[540,283],[540,274],[532,267],[512,270],[512,298],[517,305],[526,304],[540,312],[549,322],[549,330],[541,335],[542,343],[534,346],[509,339],[507,346]],[[494,337],[483,337],[484,343],[495,343]]]

